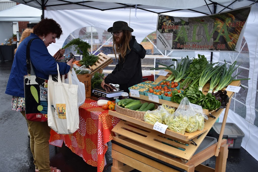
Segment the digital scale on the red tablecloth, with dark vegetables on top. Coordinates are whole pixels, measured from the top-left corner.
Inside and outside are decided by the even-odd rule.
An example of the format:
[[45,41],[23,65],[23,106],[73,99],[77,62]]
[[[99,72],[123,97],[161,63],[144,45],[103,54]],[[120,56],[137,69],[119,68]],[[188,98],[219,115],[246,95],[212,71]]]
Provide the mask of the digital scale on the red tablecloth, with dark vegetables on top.
[[100,89],[97,89],[97,88],[93,88],[91,94],[92,94],[92,96],[95,96],[95,97],[104,97],[108,100],[115,100],[115,99],[122,99],[121,94],[123,92],[124,92],[124,90],[119,90],[118,89],[118,91],[108,93],[106,91],[103,91],[103,90],[100,90]]

